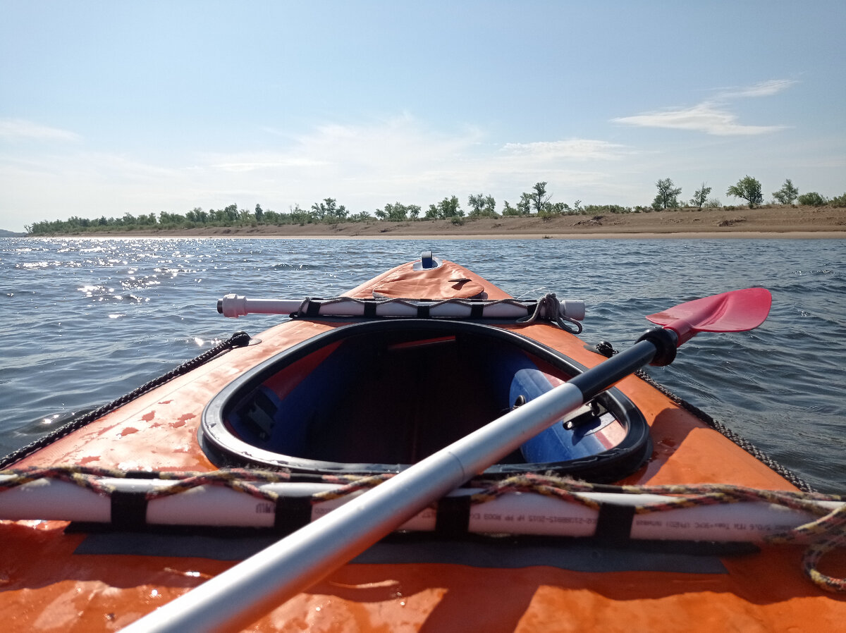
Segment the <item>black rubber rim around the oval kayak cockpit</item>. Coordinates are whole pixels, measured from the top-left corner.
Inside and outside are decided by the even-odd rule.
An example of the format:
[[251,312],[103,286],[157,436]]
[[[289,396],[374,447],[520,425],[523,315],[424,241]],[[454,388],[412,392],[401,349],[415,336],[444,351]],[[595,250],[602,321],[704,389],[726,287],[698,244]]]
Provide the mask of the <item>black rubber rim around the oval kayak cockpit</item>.
[[[300,473],[374,475],[399,472],[408,468],[406,464],[341,463],[320,460],[306,460],[274,453],[246,443],[233,435],[225,423],[228,413],[239,401],[250,394],[267,378],[284,366],[299,361],[316,350],[338,343],[343,339],[373,333],[422,333],[426,336],[446,336],[468,333],[487,337],[514,345],[520,350],[535,355],[569,376],[585,372],[586,367],[568,356],[552,350],[533,339],[510,330],[474,322],[398,319],[353,322],[334,328],[284,350],[260,365],[244,372],[211,399],[203,410],[199,429],[200,444],[206,456],[218,467],[261,467],[283,468]],[[624,440],[613,449],[588,457],[557,462],[495,464],[484,471],[484,476],[507,477],[522,472],[551,472],[563,476],[577,476],[591,482],[616,482],[640,468],[651,455],[652,443],[649,425],[640,410],[629,398],[616,388],[608,389],[598,396],[602,405],[618,420],[627,421]]]

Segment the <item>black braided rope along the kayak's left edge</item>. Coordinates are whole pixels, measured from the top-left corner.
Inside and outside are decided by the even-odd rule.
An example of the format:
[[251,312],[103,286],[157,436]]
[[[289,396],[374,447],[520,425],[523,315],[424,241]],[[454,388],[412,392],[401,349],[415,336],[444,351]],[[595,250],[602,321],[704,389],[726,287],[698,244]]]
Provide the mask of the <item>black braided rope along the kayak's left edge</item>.
[[0,460],[0,468],[6,468],[8,465],[14,464],[18,460],[22,460],[27,455],[33,454],[38,449],[42,449],[48,444],[51,444],[58,440],[59,438],[63,438],[69,433],[76,431],[82,427],[85,427],[86,424],[89,424],[92,421],[95,421],[102,416],[105,416],[107,413],[110,413],[113,410],[118,409],[126,405],[128,402],[139,398],[141,395],[146,394],[148,391],[152,391],[153,389],[160,387],[164,383],[168,383],[173,378],[182,376],[195,368],[206,364],[208,361],[211,361],[212,358],[215,356],[222,354],[225,351],[232,350],[236,347],[244,347],[244,345],[250,343],[250,334],[246,332],[236,332],[233,333],[225,341],[222,343],[215,345],[211,348],[211,350],[206,350],[201,355],[190,359],[190,361],[185,361],[178,367],[175,367],[170,372],[162,374],[162,376],[154,378],[149,383],[145,383],[141,385],[139,388],[135,388],[129,392],[129,394],[124,394],[120,396],[118,399],[112,400],[112,402],[108,403],[107,405],[102,405],[97,407],[95,410],[88,411],[80,416],[76,416],[63,426],[58,427],[53,432],[47,433],[47,435],[36,439],[36,441],[27,444],[17,450],[14,450],[12,453],[6,455],[2,460]]

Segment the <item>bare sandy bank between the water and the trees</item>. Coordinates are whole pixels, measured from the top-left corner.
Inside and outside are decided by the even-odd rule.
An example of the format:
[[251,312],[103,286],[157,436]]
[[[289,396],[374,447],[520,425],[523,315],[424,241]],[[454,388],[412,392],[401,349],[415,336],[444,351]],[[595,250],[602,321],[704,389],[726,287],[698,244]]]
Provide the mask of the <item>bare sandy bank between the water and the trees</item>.
[[722,207],[649,213],[464,218],[303,225],[244,225],[80,234],[86,237],[291,239],[844,239],[846,208]]

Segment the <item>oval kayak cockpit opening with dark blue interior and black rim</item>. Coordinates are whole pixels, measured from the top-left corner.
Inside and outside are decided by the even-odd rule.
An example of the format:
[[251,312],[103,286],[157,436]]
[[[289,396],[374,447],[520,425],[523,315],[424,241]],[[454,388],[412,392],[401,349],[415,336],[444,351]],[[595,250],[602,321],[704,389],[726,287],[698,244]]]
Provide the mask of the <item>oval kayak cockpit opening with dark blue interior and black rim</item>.
[[[396,472],[584,371],[502,328],[418,319],[344,325],[285,350],[223,388],[201,444],[221,467]],[[616,389],[486,471],[614,481],[651,453],[640,411]]]

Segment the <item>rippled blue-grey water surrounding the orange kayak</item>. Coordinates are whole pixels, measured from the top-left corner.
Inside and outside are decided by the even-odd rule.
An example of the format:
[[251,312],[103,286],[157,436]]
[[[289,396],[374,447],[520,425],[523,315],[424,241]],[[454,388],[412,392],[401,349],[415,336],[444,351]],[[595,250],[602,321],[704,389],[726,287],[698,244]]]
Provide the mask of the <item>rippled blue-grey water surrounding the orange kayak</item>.
[[332,296],[430,248],[516,297],[584,299],[582,338],[615,348],[646,314],[770,289],[761,328],[702,334],[651,373],[812,485],[846,491],[846,242],[829,239],[0,239],[0,452],[279,319],[225,319],[223,294]]

